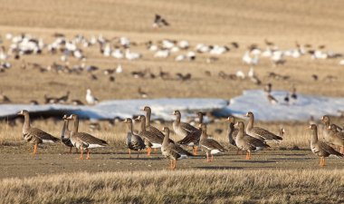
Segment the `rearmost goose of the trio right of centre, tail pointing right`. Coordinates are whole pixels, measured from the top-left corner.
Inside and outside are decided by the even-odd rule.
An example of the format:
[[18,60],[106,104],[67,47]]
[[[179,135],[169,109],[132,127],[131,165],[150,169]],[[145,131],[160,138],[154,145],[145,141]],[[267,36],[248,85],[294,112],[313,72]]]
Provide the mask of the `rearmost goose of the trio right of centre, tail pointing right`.
[[247,112],[246,117],[249,117],[249,121],[247,123],[246,127],[246,133],[253,138],[259,139],[261,141],[282,141],[282,137],[277,136],[273,134],[270,131],[266,131],[263,128],[260,127],[254,127],[253,122],[254,122],[254,115],[253,112]]

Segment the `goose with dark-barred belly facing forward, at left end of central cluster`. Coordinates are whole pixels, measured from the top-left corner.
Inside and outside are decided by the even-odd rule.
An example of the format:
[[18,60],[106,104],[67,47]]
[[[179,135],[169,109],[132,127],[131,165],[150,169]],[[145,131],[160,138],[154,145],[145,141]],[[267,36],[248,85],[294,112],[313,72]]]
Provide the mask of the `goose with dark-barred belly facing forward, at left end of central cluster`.
[[[135,134],[132,131],[132,120],[127,118],[124,122],[128,124],[128,128],[129,128],[126,144],[129,150],[129,158],[131,158],[130,150],[141,151],[146,148],[146,145],[145,145],[145,142],[139,137],[139,135]],[[139,152],[138,152],[138,158],[139,158]]]

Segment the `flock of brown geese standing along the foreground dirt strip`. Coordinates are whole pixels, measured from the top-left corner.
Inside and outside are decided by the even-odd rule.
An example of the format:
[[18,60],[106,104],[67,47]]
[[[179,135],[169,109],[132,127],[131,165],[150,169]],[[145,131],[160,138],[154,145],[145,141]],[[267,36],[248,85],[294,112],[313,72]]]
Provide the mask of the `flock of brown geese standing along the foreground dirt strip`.
[[[181,113],[179,111],[173,112],[176,116],[173,121],[172,129],[179,137],[183,138],[180,141],[173,141],[170,138],[170,129],[163,127],[159,131],[150,122],[151,109],[146,106],[141,111],[146,112],[145,115],[139,115],[135,121],[140,122],[140,130],[133,130],[133,120],[127,118],[123,122],[128,124],[128,134],[126,145],[129,150],[129,157],[131,158],[131,151],[139,151],[147,149],[148,156],[151,156],[152,149],[160,149],[161,153],[170,160],[170,168],[175,169],[177,160],[183,160],[188,157],[194,157],[198,154],[198,148],[205,151],[206,161],[214,161],[214,155],[228,151],[225,147],[215,139],[209,137],[206,131],[206,124],[203,122],[202,112],[197,112],[198,127],[195,127],[187,122],[181,121]],[[18,113],[24,115],[23,137],[25,141],[33,143],[33,154],[36,155],[38,144],[41,143],[55,143],[62,141],[62,143],[76,151],[81,151],[79,159],[83,159],[83,151],[87,153],[87,160],[90,160],[90,150],[93,148],[101,148],[108,146],[107,141],[100,140],[89,133],[78,131],[79,118],[78,115],[72,114],[70,116],[63,116],[63,127],[61,139],[53,137],[53,135],[33,128],[30,125],[29,112],[23,110]],[[261,127],[254,125],[253,112],[247,112],[246,117],[249,118],[247,124],[244,121],[237,121],[233,116],[227,118],[228,125],[228,141],[238,150],[246,151],[246,160],[252,159],[253,151],[261,151],[269,148],[269,142],[282,141],[284,129],[281,130],[280,135],[276,135],[271,131],[265,130]],[[69,130],[69,121],[73,121],[72,131]],[[344,157],[344,131],[339,126],[330,123],[329,116],[322,117],[325,125],[324,141],[318,139],[317,125],[311,124],[311,151],[320,157],[320,166],[325,165],[325,158],[329,156]],[[339,146],[340,152],[336,151],[330,145]],[[186,150],[186,147],[192,147],[192,152]]]

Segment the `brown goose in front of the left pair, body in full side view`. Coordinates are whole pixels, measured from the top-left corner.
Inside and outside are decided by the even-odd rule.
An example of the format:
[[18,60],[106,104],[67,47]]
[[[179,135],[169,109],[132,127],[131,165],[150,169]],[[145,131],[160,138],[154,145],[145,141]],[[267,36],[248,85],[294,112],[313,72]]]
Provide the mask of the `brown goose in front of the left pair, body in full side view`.
[[72,145],[77,149],[81,150],[80,160],[83,160],[83,150],[87,151],[86,160],[90,160],[90,150],[91,148],[100,148],[108,145],[106,141],[100,140],[89,133],[79,132],[79,117],[78,115],[72,114],[67,118],[68,120],[74,121],[71,132]]

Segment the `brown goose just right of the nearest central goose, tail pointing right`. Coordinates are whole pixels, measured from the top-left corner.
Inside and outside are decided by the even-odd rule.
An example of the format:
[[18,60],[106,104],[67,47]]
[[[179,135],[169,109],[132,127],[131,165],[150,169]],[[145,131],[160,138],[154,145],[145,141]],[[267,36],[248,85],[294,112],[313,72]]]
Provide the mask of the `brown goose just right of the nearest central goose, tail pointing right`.
[[[208,138],[208,135],[206,134],[206,125],[204,123],[199,126],[202,130],[199,146],[206,152],[206,162],[214,161],[214,154],[225,152],[226,150],[219,142]],[[209,153],[212,155],[211,160],[209,160]]]

